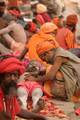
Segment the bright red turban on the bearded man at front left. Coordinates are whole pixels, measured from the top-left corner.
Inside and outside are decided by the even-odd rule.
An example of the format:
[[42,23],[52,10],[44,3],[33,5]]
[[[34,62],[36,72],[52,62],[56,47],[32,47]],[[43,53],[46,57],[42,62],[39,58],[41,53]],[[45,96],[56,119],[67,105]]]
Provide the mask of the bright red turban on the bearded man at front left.
[[25,71],[22,62],[15,57],[6,58],[0,61],[0,73],[13,72],[18,70],[20,74]]

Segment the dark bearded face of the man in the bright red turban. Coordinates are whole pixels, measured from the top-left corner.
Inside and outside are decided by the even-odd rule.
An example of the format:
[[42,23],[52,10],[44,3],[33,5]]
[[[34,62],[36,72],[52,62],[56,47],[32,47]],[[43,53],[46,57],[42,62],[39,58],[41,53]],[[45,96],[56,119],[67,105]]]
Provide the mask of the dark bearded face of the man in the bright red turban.
[[4,93],[5,94],[14,94],[17,88],[17,80],[19,79],[18,71],[5,73],[3,86],[4,86]]

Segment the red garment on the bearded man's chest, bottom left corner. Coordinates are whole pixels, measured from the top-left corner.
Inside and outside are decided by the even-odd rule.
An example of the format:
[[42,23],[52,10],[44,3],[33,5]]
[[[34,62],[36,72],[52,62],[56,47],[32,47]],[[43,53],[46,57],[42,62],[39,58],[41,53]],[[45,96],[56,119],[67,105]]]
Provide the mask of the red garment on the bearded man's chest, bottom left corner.
[[4,102],[4,94],[0,88],[0,112],[3,110],[6,110],[6,113],[11,114],[11,120],[15,120],[16,114],[20,112],[20,105],[15,96],[13,98],[6,97]]

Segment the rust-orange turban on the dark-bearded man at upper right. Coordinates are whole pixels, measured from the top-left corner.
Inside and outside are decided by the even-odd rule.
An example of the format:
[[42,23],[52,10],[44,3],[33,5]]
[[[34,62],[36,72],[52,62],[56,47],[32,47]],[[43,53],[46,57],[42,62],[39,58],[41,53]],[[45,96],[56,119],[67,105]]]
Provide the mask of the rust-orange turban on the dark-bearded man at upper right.
[[78,18],[77,15],[75,14],[69,15],[66,18],[66,24],[68,25],[77,24],[77,22],[78,22]]

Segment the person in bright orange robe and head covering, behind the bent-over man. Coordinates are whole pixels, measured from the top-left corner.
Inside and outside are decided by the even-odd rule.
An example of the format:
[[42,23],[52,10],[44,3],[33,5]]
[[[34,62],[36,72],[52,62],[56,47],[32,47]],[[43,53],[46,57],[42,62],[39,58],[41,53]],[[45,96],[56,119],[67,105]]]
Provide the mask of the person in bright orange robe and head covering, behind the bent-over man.
[[49,41],[54,46],[59,46],[58,43],[55,40],[55,33],[57,31],[57,26],[53,23],[45,23],[41,26],[40,31],[33,35],[32,38],[29,40],[29,58],[32,60],[38,60],[43,63],[43,61],[38,56],[36,49],[38,47],[38,44],[41,44],[42,42]]

